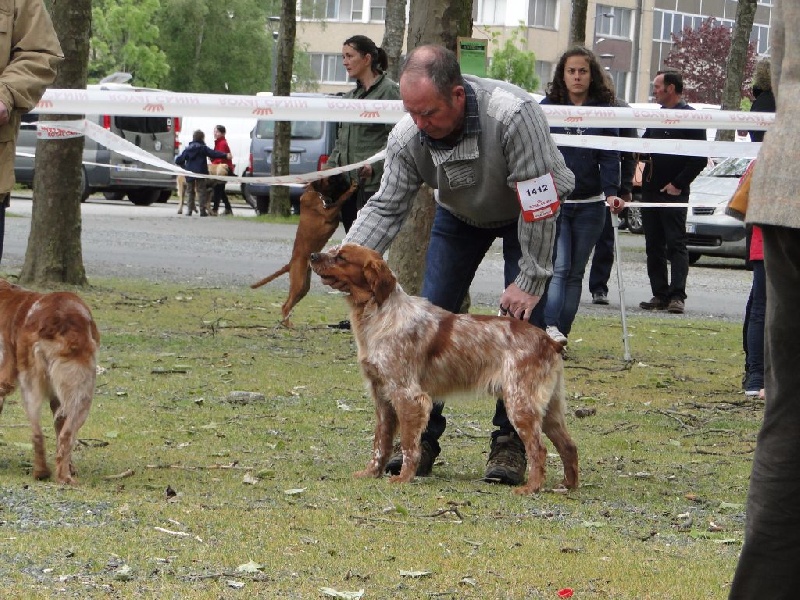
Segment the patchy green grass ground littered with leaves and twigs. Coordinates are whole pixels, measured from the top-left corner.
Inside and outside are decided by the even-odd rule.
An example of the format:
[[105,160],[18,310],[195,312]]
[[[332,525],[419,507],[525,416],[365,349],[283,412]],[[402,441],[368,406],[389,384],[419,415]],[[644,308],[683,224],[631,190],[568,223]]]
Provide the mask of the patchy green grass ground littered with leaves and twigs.
[[[0,420],[4,598],[727,595],[762,409],[740,391],[736,323],[630,318],[626,364],[616,316],[579,313],[582,485],[519,497],[480,481],[489,398],[448,403],[433,477],[351,477],[373,409],[351,334],[327,327],[341,298],[310,295],[286,329],[276,290],[93,283],[102,372],[80,485],[32,480],[18,394]],[[560,478],[549,456],[547,487]]]

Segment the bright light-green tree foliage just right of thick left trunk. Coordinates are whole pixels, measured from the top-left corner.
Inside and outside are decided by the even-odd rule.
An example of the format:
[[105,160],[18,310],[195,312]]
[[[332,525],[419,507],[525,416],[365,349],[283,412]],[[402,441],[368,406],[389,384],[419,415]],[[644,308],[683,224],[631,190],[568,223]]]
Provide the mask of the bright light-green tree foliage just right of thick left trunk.
[[90,82],[123,71],[133,75],[136,85],[161,85],[169,67],[159,48],[159,9],[159,0],[94,0]]

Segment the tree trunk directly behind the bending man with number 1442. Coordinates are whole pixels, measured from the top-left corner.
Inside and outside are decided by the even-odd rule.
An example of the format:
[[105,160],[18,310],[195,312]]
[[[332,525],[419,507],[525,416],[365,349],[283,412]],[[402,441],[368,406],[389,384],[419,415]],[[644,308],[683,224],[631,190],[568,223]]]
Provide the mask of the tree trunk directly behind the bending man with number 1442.
[[[457,38],[472,34],[470,0],[411,0],[408,50],[423,44],[442,44],[456,51]],[[419,294],[425,273],[425,254],[436,205],[423,186],[414,198],[406,222],[389,247],[389,266],[410,294]]]

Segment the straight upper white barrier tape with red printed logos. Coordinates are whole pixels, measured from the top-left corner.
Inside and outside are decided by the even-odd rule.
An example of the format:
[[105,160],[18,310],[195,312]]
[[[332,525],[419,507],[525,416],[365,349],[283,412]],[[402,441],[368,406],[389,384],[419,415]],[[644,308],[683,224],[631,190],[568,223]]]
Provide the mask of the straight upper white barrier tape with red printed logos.
[[[766,130],[773,113],[542,105],[551,126],[713,128]],[[270,121],[397,123],[400,100],[351,100],[338,96],[236,96],[167,91],[47,90],[33,110],[51,114],[108,114],[258,118]]]

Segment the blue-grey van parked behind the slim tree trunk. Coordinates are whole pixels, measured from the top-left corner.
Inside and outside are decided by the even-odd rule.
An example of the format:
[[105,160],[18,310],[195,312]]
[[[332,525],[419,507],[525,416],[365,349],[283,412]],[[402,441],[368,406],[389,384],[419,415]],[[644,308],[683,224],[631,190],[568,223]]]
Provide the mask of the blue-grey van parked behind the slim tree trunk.
[[[292,94],[296,97],[324,97],[325,94]],[[289,173],[292,175],[313,173],[322,169],[328,162],[333,146],[336,143],[337,123],[327,121],[292,121],[292,139],[289,148]],[[275,121],[258,120],[250,142],[251,177],[269,177],[272,175],[272,140],[275,134]],[[255,203],[256,212],[266,213],[269,209],[268,184],[245,184],[245,199],[250,196]],[[304,185],[289,186],[292,201],[292,212],[300,210],[300,196]],[[248,200],[251,203],[251,200]]]

